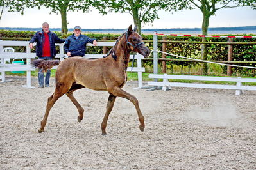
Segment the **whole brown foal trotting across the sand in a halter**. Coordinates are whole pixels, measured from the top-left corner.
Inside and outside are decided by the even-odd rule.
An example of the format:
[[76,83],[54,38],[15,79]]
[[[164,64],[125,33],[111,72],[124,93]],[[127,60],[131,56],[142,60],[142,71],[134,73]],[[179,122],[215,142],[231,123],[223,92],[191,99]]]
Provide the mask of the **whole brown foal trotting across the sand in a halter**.
[[59,65],[56,70],[56,88],[51,97],[48,98],[46,113],[41,121],[41,127],[38,132],[44,132],[46,121],[51,107],[62,95],[67,97],[76,105],[79,115],[78,121],[83,120],[83,108],[73,96],[73,92],[81,88],[108,91],[108,103],[105,116],[101,123],[102,135],[106,135],[108,116],[112,111],[115,98],[123,97],[135,105],[139,117],[139,129],[144,130],[144,116],[139,108],[137,98],[130,95],[122,88],[127,81],[126,70],[130,60],[130,52],[138,52],[144,57],[148,56],[150,51],[142,42],[142,37],[132,30],[132,26],[122,36],[119,36],[113,49],[106,58],[85,59],[73,57],[64,59],[64,61],[44,61],[35,60],[31,64],[37,68],[47,70],[55,65]]

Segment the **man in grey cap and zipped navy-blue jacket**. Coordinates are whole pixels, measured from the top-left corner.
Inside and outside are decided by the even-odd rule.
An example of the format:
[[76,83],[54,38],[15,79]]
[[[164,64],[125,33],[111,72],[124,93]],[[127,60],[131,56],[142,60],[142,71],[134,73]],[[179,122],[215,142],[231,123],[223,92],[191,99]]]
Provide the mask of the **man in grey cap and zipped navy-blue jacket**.
[[73,56],[85,56],[86,44],[92,43],[94,46],[97,45],[97,40],[89,38],[86,35],[81,35],[81,27],[74,27],[73,35],[67,37],[64,44],[64,52],[69,57]]

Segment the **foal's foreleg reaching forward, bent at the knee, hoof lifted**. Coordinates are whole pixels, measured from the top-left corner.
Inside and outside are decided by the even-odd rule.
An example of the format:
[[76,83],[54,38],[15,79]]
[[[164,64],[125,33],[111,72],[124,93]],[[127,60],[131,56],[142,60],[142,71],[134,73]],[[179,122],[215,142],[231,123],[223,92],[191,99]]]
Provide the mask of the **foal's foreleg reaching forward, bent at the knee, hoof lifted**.
[[137,114],[138,114],[138,117],[139,117],[139,121],[140,121],[140,125],[139,125],[139,129],[141,131],[144,131],[144,128],[145,128],[145,124],[144,124],[144,116],[142,115],[141,113],[141,109],[139,108],[139,102],[137,100],[136,97],[134,97],[133,95],[127,93],[126,91],[124,91],[123,89],[119,88],[119,87],[115,87],[111,93],[117,97],[123,97],[123,98],[126,98],[128,100],[130,100],[130,102],[133,103],[133,105],[135,106],[136,108],[136,111],[137,111]]

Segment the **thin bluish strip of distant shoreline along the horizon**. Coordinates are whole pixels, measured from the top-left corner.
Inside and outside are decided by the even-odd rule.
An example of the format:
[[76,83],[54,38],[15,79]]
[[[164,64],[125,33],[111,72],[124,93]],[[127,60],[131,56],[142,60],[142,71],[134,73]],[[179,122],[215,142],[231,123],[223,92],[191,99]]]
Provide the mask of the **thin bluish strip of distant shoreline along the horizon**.
[[[0,30],[12,31],[38,31],[42,28],[28,27],[0,27]],[[73,28],[68,29],[73,32]],[[51,31],[61,31],[60,28],[51,28]],[[126,29],[82,29],[85,33],[124,33]],[[142,34],[152,34],[154,31],[158,33],[191,33],[201,34],[201,28],[166,28],[166,29],[142,29]],[[209,34],[256,34],[256,26],[244,27],[210,27]]]

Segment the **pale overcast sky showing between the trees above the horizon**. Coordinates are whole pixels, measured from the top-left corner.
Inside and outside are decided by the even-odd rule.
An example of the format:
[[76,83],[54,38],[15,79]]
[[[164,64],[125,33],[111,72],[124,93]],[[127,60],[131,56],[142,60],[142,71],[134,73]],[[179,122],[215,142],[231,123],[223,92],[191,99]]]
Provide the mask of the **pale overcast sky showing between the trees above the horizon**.
[[[56,13],[49,14],[49,9],[37,8],[26,9],[24,15],[19,12],[3,12],[0,27],[42,27],[43,22],[48,22],[50,28],[60,28],[61,18]],[[200,10],[185,10],[182,12],[159,11],[153,26],[146,25],[146,28],[194,28],[201,27],[202,14]],[[78,25],[83,29],[126,29],[133,24],[132,15],[129,13],[99,14],[98,10],[89,13],[68,12],[67,22],[69,28]],[[256,26],[256,10],[249,7],[223,8],[210,17],[209,27],[239,27]]]

